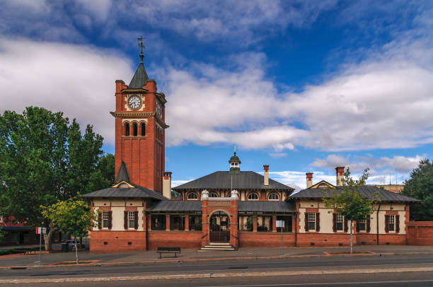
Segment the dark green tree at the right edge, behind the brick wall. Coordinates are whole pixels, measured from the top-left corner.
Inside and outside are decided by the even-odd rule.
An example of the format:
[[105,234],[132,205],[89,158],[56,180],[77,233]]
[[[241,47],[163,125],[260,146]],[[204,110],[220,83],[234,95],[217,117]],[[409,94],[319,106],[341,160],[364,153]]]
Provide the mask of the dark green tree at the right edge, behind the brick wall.
[[418,167],[410,172],[409,180],[405,180],[402,194],[421,200],[410,205],[410,220],[433,220],[433,161],[420,161]]

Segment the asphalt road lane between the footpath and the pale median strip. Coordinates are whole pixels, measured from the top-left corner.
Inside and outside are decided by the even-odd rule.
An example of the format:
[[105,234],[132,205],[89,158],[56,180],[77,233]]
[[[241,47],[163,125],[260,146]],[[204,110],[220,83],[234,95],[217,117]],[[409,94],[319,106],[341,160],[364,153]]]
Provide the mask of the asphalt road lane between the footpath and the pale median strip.
[[[359,269],[433,266],[432,254],[299,257],[285,259],[171,262],[158,264],[57,266],[30,269],[0,269],[0,279],[40,279],[154,274],[212,274],[251,271],[299,271],[309,269]],[[430,285],[433,286],[433,283]]]

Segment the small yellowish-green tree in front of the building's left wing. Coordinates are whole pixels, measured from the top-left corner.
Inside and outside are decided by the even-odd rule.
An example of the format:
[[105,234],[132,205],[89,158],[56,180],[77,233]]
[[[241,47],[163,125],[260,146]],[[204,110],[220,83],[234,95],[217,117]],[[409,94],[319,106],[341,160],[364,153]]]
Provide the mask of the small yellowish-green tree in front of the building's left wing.
[[88,230],[96,226],[97,218],[91,211],[91,207],[79,199],[73,197],[64,201],[57,201],[51,206],[40,206],[42,216],[48,218],[53,227],[66,230],[67,234],[74,236],[76,264],[79,264],[77,237],[82,237]]

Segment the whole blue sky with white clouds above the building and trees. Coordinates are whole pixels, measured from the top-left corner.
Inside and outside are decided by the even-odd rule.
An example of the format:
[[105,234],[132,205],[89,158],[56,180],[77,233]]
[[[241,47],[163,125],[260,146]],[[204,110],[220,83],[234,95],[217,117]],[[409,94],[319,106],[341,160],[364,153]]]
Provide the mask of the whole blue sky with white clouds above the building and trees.
[[39,105],[93,124],[114,152],[115,80],[166,93],[173,183],[242,170],[292,187],[401,182],[433,149],[432,1],[7,1],[0,112]]

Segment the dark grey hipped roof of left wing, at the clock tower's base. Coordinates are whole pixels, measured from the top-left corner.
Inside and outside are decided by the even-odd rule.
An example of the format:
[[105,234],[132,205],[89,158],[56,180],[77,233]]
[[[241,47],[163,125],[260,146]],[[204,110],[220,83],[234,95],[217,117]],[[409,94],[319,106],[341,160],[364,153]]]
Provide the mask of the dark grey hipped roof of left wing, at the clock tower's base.
[[152,189],[140,187],[139,185],[134,185],[133,183],[129,183],[129,185],[132,185],[134,187],[108,187],[105,189],[97,190],[96,192],[84,194],[82,197],[140,197],[158,200],[166,199],[159,192],[155,192]]

